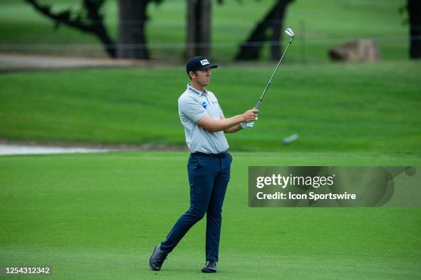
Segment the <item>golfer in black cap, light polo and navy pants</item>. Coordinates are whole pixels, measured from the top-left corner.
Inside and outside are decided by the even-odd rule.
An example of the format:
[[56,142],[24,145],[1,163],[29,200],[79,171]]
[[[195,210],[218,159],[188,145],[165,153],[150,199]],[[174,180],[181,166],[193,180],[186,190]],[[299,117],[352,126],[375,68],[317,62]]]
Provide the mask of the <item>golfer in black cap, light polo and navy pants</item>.
[[210,82],[210,69],[217,67],[203,56],[191,58],[186,65],[191,82],[178,99],[178,113],[191,151],[187,164],[190,208],[175,222],[166,240],[155,246],[149,259],[152,270],[161,269],[166,256],[205,213],[206,264],[202,272],[217,270],[222,205],[233,161],[225,133],[252,127],[258,113],[252,109],[235,117],[224,117],[217,97],[205,89]]

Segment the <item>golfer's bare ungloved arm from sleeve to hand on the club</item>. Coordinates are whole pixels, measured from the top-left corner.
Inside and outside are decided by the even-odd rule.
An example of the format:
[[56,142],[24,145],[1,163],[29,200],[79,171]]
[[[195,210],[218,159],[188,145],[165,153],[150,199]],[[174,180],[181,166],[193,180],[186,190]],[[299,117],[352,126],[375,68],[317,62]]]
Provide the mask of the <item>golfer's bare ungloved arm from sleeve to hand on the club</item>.
[[239,123],[241,123],[242,121],[255,121],[257,113],[259,113],[259,110],[247,110],[241,115],[229,117],[228,119],[211,119],[209,115],[206,115],[199,119],[199,121],[197,121],[197,124],[200,127],[208,130],[209,132],[226,131],[230,130],[230,128],[233,128],[237,125],[239,126]]

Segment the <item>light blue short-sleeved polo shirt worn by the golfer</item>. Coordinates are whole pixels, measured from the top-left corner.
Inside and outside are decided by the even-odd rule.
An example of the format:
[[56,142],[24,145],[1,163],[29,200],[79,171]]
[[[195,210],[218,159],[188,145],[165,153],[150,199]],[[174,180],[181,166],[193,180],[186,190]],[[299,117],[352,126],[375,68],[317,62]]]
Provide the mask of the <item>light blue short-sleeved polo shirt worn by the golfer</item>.
[[222,109],[213,93],[206,89],[197,91],[188,84],[186,91],[178,98],[178,114],[191,152],[219,154],[228,150],[224,131],[208,132],[197,125],[197,121],[205,115],[211,119],[221,119]]

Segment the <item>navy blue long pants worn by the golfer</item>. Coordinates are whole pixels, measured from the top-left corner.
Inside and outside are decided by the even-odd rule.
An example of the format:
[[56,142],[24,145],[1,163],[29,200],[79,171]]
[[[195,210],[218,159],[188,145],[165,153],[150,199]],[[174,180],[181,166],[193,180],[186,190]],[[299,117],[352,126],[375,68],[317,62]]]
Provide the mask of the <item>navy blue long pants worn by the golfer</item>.
[[175,222],[166,240],[161,243],[163,252],[171,253],[193,224],[206,213],[206,261],[218,261],[222,204],[232,161],[233,157],[228,152],[190,154],[187,164],[190,208]]

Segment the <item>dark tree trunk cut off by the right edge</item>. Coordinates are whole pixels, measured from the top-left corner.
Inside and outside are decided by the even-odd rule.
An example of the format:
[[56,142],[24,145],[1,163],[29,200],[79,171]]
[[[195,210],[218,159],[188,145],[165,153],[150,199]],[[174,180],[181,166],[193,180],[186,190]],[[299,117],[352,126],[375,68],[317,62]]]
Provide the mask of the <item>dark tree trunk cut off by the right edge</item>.
[[421,58],[421,1],[408,0],[409,14],[409,58]]

